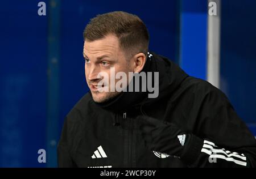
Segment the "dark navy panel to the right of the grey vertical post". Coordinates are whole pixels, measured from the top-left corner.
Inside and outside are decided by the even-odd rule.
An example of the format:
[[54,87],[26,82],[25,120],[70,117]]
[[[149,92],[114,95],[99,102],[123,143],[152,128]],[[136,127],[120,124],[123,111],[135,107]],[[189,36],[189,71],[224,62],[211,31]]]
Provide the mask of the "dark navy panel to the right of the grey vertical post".
[[247,123],[256,123],[255,7],[250,0],[222,1],[221,10],[221,89]]

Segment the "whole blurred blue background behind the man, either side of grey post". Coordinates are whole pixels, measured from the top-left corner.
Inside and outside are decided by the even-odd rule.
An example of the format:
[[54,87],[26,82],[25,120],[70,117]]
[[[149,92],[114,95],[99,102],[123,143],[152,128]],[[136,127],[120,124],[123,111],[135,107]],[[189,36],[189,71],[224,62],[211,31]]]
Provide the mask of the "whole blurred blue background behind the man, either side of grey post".
[[[56,167],[65,115],[86,93],[82,32],[97,14],[138,15],[150,50],[207,79],[205,0],[2,1],[0,6],[0,167]],[[256,1],[221,3],[220,89],[256,135]],[[45,149],[47,163],[38,163]]]

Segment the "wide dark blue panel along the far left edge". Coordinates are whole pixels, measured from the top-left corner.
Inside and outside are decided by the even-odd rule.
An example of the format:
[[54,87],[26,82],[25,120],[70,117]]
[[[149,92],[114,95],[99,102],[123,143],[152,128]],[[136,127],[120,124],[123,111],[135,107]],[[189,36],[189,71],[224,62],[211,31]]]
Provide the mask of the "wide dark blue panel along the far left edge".
[[45,167],[47,19],[37,1],[3,1],[0,22],[0,167]]

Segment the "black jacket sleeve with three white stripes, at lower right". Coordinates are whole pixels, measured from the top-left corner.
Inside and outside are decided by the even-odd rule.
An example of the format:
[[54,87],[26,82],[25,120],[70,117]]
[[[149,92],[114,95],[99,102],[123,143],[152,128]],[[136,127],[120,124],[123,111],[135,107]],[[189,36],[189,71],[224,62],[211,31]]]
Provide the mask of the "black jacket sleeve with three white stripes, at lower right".
[[202,101],[181,159],[190,167],[256,167],[255,137],[224,93],[210,91]]

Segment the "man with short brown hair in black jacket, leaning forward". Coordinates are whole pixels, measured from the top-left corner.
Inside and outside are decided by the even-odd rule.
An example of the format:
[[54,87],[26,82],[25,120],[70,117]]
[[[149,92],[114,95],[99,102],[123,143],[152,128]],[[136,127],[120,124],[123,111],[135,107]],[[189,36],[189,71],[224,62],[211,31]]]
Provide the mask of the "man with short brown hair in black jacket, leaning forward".
[[[86,26],[90,92],[65,119],[59,167],[255,167],[255,138],[224,93],[148,52],[148,41],[142,20],[126,12]],[[147,79],[136,83],[136,74]]]

